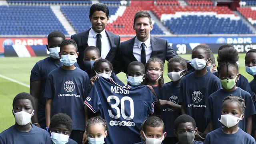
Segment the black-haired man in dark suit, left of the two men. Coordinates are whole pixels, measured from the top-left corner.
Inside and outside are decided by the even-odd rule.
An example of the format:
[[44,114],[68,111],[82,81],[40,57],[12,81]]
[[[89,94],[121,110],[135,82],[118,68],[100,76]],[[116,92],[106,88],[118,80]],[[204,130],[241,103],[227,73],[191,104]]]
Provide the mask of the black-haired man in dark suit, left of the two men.
[[93,4],[90,7],[89,19],[92,28],[71,36],[71,39],[75,40],[78,46],[79,56],[77,63],[82,70],[86,70],[83,57],[84,49],[88,46],[99,48],[101,58],[105,58],[111,63],[114,62],[120,46],[120,36],[105,30],[109,19],[108,6],[106,4]]

